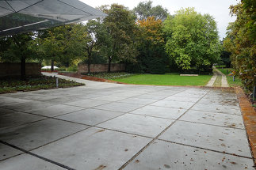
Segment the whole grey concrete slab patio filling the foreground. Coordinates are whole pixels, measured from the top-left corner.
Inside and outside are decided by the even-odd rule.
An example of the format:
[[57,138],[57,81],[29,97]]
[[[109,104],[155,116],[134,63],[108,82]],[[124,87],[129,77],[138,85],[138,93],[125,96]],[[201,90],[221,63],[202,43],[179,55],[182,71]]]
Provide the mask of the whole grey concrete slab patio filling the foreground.
[[1,170],[253,166],[231,90],[89,82],[0,95]]

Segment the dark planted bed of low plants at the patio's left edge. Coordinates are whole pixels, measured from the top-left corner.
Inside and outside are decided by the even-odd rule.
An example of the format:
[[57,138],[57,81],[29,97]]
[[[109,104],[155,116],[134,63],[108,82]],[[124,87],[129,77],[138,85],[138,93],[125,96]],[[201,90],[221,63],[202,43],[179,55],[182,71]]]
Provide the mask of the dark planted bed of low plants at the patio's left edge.
[[[67,88],[84,85],[75,81],[67,81],[59,78],[59,88]],[[55,89],[55,77],[32,77],[26,81],[21,81],[17,78],[9,78],[0,80],[0,93],[13,93],[17,91],[32,91],[39,89]]]

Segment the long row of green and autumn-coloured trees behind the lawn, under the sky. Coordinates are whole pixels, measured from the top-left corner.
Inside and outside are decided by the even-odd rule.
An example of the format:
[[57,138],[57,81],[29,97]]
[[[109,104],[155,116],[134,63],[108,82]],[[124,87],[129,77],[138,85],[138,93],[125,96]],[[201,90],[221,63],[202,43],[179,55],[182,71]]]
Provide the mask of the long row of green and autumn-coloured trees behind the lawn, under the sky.
[[[164,74],[208,71],[220,60],[216,21],[193,8],[174,15],[152,2],[129,10],[113,4],[100,6],[105,18],[86,24],[63,25],[43,31],[6,36],[0,40],[0,62],[51,60],[70,66],[75,60],[125,63],[132,73]],[[89,69],[90,70],[90,69]]]

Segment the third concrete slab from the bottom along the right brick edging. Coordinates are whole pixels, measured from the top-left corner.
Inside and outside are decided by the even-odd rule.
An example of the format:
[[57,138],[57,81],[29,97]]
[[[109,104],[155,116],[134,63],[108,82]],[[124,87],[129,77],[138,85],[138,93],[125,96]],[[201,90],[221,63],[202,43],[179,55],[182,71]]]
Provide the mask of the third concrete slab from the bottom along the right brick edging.
[[245,128],[243,125],[243,119],[241,115],[230,115],[207,111],[190,110],[186,112],[185,115],[183,115],[180,120],[196,123],[206,123],[224,127],[234,127],[241,129]]

